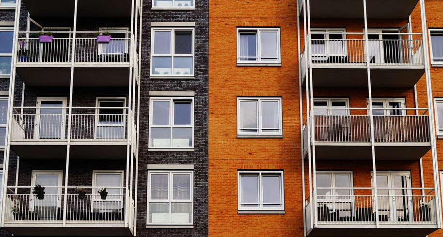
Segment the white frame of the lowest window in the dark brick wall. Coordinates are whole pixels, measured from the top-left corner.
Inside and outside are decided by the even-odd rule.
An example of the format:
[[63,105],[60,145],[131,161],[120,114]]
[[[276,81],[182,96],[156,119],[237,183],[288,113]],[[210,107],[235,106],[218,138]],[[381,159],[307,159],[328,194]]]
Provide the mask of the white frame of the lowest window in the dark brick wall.
[[[151,176],[168,175],[168,199],[151,199]],[[190,175],[190,199],[173,199],[173,175],[183,174]],[[169,223],[150,223],[149,222],[149,203],[169,203]],[[191,222],[187,223],[171,223],[172,203],[190,203],[191,204]],[[147,203],[146,203],[146,224],[147,225],[193,225],[194,223],[194,171],[193,170],[148,170],[147,185]]]

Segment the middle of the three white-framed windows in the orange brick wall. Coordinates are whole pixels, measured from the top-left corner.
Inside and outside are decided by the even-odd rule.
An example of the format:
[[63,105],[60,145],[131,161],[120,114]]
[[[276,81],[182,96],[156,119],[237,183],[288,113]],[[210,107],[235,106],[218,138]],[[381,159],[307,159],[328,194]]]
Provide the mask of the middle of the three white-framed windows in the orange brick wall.
[[282,135],[282,98],[237,98],[238,135]]

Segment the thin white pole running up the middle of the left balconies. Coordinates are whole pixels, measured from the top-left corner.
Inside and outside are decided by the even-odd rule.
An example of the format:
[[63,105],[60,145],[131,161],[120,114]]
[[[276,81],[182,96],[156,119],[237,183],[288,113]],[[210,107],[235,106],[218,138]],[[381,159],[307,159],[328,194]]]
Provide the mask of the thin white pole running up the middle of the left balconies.
[[64,195],[63,195],[63,227],[66,226],[66,208],[68,200],[68,178],[69,178],[69,151],[71,147],[71,122],[72,122],[72,94],[74,89],[74,60],[76,48],[76,33],[77,33],[77,10],[78,0],[74,3],[74,28],[72,33],[72,49],[71,49],[71,81],[69,85],[69,107],[68,107],[68,126],[67,126],[67,145],[66,145],[66,167],[64,172]]

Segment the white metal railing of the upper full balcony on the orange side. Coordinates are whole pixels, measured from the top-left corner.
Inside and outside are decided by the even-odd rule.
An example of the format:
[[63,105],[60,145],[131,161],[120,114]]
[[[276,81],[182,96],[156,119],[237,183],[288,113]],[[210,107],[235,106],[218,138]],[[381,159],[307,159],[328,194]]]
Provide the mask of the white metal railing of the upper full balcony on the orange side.
[[[311,60],[313,65],[364,65],[369,56],[373,65],[424,65],[423,39],[419,33],[369,33],[369,47],[365,35],[346,32],[311,32]],[[384,39],[384,37],[391,39]],[[392,39],[397,37],[398,39]]]

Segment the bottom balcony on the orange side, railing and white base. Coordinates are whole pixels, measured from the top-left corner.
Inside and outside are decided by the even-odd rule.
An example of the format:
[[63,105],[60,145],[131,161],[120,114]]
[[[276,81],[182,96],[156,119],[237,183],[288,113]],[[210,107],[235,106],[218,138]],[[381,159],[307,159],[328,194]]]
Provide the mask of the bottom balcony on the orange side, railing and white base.
[[439,228],[433,189],[423,188],[424,195],[420,188],[377,190],[376,198],[371,188],[317,188],[313,204],[306,200],[307,235],[417,237]]

